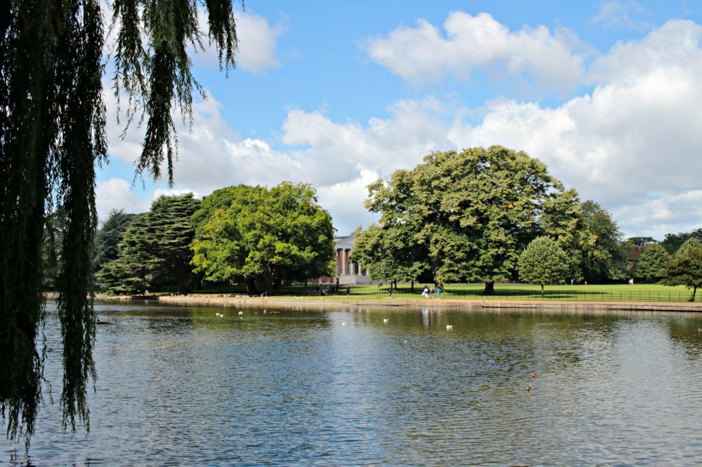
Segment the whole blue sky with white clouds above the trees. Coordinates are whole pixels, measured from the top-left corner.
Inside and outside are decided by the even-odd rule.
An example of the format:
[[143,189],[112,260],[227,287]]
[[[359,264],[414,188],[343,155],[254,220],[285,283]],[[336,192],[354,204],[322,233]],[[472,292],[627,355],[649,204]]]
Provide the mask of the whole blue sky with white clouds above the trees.
[[430,151],[502,144],[540,158],[627,236],[699,228],[701,9],[247,0],[229,79],[212,50],[194,58],[208,98],[194,107],[192,131],[179,129],[173,189],[132,184],[143,130],[121,138],[106,95],[110,164],[98,171],[98,212],[291,180],[313,184],[347,234],[375,220],[363,208],[370,182]]

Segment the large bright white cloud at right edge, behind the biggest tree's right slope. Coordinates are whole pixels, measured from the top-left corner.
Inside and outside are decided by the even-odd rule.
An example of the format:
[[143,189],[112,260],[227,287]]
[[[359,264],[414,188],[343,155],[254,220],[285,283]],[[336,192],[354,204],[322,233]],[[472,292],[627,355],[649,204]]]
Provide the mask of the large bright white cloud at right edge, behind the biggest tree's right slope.
[[698,25],[676,21],[620,43],[593,63],[604,81],[592,95],[554,109],[490,102],[479,125],[458,123],[451,139],[458,146],[503,144],[541,158],[583,198],[615,212],[629,234],[645,229],[662,238],[675,224],[698,226],[690,200],[702,172],[701,34]]

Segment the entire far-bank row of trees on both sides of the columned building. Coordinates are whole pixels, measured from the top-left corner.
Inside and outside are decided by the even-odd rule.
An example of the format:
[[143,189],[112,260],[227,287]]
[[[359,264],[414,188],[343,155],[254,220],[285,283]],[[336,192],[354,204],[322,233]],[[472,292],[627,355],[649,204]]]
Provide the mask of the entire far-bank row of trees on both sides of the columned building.
[[[482,282],[487,294],[503,280],[541,284],[542,292],[550,283],[629,278],[687,284],[670,265],[696,251],[702,233],[623,241],[607,210],[581,202],[538,159],[497,146],[432,153],[369,185],[366,207],[380,222],[355,231],[351,259],[371,278]],[[55,245],[65,223],[60,211],[47,222],[46,287],[60,270]],[[632,248],[641,251],[635,262]],[[333,227],[307,184],[239,185],[202,200],[161,196],[143,214],[110,212],[95,236],[93,264],[98,290],[113,294],[185,294],[203,279],[272,293],[333,273]]]

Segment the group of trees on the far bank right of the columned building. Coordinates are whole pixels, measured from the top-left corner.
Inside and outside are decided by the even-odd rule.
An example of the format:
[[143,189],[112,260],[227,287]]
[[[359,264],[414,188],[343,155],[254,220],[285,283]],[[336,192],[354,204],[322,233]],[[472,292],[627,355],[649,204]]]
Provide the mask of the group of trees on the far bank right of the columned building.
[[[478,282],[490,294],[503,280],[539,283],[543,291],[545,283],[634,276],[696,287],[701,276],[682,278],[674,265],[696,255],[699,243],[690,237],[702,229],[660,244],[623,241],[607,210],[581,202],[538,159],[501,146],[429,154],[371,184],[366,208],[380,222],[355,231],[351,259],[378,280]],[[652,244],[631,264],[628,252],[642,242]],[[675,252],[670,261],[666,248]]]

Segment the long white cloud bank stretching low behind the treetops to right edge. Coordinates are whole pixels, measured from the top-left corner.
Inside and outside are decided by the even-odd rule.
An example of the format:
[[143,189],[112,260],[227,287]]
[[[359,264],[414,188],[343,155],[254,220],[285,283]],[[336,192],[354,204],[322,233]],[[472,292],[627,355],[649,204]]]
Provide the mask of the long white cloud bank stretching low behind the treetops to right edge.
[[[456,18],[464,16],[470,15]],[[485,16],[480,21],[494,22]],[[505,41],[516,40],[515,34],[505,32]],[[528,48],[533,38],[527,33],[523,38]],[[365,186],[378,177],[412,168],[431,151],[502,144],[540,158],[583,200],[610,210],[626,234],[662,239],[668,232],[690,231],[702,218],[701,38],[702,26],[670,21],[638,41],[617,43],[579,69],[573,76],[595,83],[592,92],[555,107],[497,98],[473,122],[461,115],[475,109],[425,97],[397,100],[387,116],[364,122],[292,109],[279,140],[254,139],[230,128],[210,97],[195,104],[192,133],[179,128],[176,189],[202,196],[239,183],[308,182],[340,233],[347,234],[375,218],[363,201]],[[581,67],[573,57],[563,54],[562,60]],[[110,135],[119,130],[111,127]],[[111,139],[110,153],[132,162],[139,151],[136,133],[124,142]],[[108,182],[98,187],[101,215],[119,207],[120,197],[138,205],[127,182]],[[103,199],[107,194],[109,202]]]

